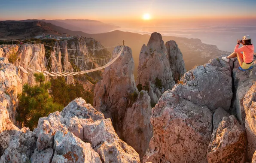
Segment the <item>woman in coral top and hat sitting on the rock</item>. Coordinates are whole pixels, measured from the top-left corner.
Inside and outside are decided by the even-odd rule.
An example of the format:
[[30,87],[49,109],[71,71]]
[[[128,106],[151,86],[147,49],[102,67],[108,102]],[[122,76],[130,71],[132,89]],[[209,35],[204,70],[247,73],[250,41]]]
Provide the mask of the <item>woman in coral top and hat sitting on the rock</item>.
[[[238,48],[240,43],[242,43],[241,48]],[[241,53],[243,52],[243,54]],[[223,60],[229,62],[229,59],[234,60],[233,58],[238,57],[238,62],[242,69],[249,69],[253,65],[253,54],[254,46],[251,42],[249,35],[244,36],[242,40],[238,39],[238,44],[235,46],[235,50],[228,57],[222,57]]]

